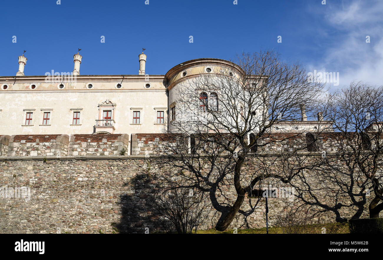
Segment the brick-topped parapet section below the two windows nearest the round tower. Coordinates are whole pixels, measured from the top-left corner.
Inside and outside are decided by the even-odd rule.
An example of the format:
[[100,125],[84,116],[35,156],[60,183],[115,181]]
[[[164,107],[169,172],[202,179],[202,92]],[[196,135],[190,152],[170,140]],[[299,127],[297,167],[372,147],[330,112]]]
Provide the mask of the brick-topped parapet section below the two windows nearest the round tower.
[[179,134],[137,133],[132,134],[132,155],[169,155],[175,154],[174,147]]

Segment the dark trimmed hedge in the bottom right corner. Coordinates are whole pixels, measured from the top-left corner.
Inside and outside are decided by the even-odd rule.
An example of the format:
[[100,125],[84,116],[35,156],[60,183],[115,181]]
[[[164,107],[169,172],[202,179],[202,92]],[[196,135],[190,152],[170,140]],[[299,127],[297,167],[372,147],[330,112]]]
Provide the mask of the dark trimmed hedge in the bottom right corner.
[[350,219],[350,233],[357,234],[383,234],[383,218]]

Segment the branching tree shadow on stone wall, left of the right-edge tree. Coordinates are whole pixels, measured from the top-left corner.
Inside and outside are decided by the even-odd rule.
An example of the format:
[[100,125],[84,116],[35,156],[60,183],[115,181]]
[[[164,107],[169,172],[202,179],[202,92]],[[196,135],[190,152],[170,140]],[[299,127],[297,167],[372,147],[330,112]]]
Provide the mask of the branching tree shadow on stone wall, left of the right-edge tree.
[[[352,159],[342,158],[346,163],[339,166],[333,163],[337,160],[339,157],[335,155],[327,156],[321,166],[311,169],[311,174],[298,176],[299,186],[291,184],[301,202],[316,207],[318,212],[331,212],[336,222],[359,219],[366,209],[368,183],[360,178]],[[321,193],[327,194],[326,201]]]

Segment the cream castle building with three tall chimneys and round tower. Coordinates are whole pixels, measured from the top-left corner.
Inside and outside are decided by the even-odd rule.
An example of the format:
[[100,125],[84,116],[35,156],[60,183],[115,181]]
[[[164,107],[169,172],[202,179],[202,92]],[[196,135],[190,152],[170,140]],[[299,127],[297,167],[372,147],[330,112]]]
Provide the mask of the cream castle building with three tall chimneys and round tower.
[[[82,56],[77,53],[73,58],[71,73],[25,76],[23,55],[18,57],[16,76],[0,76],[2,135],[171,132],[179,109],[172,89],[191,84],[188,81],[200,74],[232,66],[223,59],[203,58],[178,64],[165,75],[149,75],[142,52],[138,75],[80,75]],[[205,95],[218,98],[213,92]],[[307,121],[304,117],[302,121]],[[313,123],[301,125],[309,130]]]

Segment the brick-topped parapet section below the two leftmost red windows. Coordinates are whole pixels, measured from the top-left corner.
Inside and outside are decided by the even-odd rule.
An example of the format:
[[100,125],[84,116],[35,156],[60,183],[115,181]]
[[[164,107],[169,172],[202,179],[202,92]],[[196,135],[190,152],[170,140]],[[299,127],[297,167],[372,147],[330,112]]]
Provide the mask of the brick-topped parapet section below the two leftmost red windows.
[[67,155],[68,135],[12,135],[8,156]]

